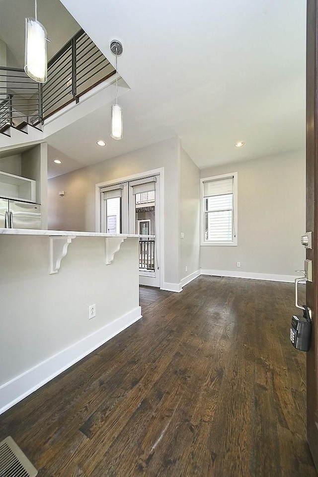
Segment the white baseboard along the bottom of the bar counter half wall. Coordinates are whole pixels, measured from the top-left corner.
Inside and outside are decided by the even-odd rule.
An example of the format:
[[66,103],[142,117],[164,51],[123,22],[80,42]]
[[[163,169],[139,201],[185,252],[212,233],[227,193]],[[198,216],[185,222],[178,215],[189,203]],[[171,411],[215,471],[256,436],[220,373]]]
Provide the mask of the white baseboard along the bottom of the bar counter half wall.
[[137,307],[0,386],[0,414],[142,318]]

